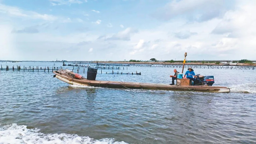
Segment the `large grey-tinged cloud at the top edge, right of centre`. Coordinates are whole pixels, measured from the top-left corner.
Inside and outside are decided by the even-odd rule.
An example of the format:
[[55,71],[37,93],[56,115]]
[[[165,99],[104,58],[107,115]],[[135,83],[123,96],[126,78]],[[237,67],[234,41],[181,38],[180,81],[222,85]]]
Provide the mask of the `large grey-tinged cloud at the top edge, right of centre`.
[[[230,7],[233,3],[229,2]],[[225,0],[174,0],[159,9],[153,16],[163,20],[185,17],[191,21],[202,22],[221,17],[225,11],[227,11]]]

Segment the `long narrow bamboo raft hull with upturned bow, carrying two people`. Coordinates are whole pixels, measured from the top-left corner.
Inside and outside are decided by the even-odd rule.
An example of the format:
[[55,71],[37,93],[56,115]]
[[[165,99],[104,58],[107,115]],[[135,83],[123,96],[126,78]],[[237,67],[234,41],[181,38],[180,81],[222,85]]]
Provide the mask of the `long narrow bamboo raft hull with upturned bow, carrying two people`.
[[114,89],[145,89],[145,90],[178,90],[178,91],[202,91],[202,92],[215,92],[215,93],[229,93],[230,88],[221,86],[177,86],[159,83],[141,83],[141,82],[118,82],[118,81],[93,81],[87,80],[82,77],[75,79],[75,73],[70,70],[54,71],[56,77],[63,82],[71,85],[83,85],[94,87],[107,87]]

